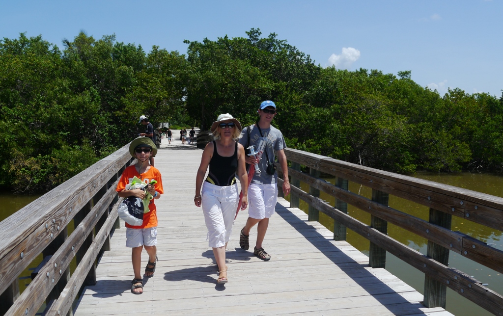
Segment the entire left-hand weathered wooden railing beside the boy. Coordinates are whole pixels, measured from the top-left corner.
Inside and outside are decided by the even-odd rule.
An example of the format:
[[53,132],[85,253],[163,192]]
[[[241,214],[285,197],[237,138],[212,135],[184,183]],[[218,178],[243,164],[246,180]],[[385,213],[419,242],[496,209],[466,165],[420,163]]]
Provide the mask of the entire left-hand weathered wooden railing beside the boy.
[[[34,315],[44,301],[45,314],[71,314],[81,287],[96,284],[97,258],[110,249],[110,234],[119,223],[115,187],[132,161],[128,146],[0,223],[0,314]],[[68,227],[73,229],[69,235]],[[40,254],[36,276],[32,273],[33,280],[19,294],[19,275]],[[77,266],[70,275],[74,257]]]

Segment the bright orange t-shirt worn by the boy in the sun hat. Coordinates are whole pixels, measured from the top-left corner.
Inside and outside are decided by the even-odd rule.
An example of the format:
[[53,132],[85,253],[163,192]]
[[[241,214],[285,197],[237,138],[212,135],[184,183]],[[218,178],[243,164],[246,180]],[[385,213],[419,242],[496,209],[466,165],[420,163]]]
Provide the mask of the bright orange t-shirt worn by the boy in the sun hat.
[[[124,172],[122,172],[121,179],[119,180],[119,183],[117,184],[117,192],[120,192],[124,189],[126,189],[126,184],[129,184],[132,180],[133,177],[136,176],[137,178],[141,179],[143,182],[150,183],[150,180],[156,180],[157,183],[154,184],[155,190],[159,194],[164,193],[164,189],[162,188],[162,179],[160,177],[160,172],[156,168],[150,166],[150,169],[148,169],[146,172],[139,174],[138,171],[136,171],[136,168],[134,165],[127,167]],[[157,226],[157,209],[155,207],[154,199],[152,198],[150,200],[150,203],[148,204],[148,208],[150,209],[150,212],[143,214],[143,225],[141,226],[132,226],[126,223],[126,227],[129,228],[149,228],[149,227],[156,227]]]

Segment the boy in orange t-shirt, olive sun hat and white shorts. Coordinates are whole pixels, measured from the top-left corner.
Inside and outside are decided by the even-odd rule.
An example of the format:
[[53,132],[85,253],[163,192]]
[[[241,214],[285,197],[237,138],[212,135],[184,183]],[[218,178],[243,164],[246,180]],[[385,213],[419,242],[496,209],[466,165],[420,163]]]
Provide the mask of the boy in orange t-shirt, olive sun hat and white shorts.
[[[131,282],[131,292],[133,294],[143,293],[143,279],[141,270],[141,251],[143,248],[148,253],[148,264],[145,267],[145,276],[152,276],[155,272],[157,259],[157,213],[154,200],[164,193],[159,170],[150,166],[150,156],[155,156],[157,148],[154,142],[148,137],[138,137],[129,145],[129,153],[137,159],[136,164],[127,167],[122,173],[117,184],[116,191],[120,197],[136,196],[145,198],[143,189],[126,190],[126,185],[131,182],[134,176],[149,183],[146,190],[154,197],[148,204],[149,212],[143,214],[143,224],[141,226],[131,226],[126,223],[126,247],[132,248],[131,261],[133,263],[134,279]],[[153,185],[152,180],[157,181]]]

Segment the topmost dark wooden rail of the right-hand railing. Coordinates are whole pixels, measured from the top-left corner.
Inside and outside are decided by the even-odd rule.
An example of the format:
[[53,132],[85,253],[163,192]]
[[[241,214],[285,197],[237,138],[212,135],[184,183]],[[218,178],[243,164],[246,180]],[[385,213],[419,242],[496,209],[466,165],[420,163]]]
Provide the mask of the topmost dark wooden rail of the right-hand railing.
[[503,230],[503,198],[501,197],[290,148],[285,149],[285,154],[288,160],[312,166],[322,172],[463,217],[475,223]]

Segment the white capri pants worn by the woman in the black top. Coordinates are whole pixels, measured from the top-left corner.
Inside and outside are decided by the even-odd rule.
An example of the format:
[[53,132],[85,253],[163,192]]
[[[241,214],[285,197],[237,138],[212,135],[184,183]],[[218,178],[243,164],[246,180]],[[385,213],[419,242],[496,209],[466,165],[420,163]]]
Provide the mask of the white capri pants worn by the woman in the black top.
[[211,248],[223,247],[230,240],[238,201],[237,183],[218,186],[204,181],[201,207]]

